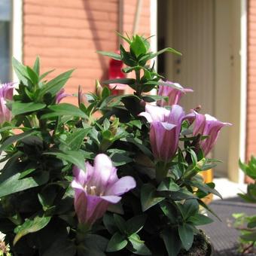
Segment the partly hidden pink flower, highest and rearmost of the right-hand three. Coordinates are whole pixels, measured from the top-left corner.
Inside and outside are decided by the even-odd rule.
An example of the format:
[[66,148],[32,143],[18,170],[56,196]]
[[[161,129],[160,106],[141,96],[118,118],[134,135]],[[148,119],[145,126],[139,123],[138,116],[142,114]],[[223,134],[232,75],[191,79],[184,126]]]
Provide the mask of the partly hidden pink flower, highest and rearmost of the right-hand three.
[[185,93],[190,93],[190,92],[194,91],[189,88],[183,88],[178,83],[172,83],[170,81],[166,81],[166,83],[173,84],[177,88],[169,87],[166,85],[159,86],[158,95],[159,96],[168,96],[168,102],[166,102],[164,99],[160,99],[159,101],[157,101],[157,105],[160,105],[161,107],[166,106],[166,105],[177,105],[181,99],[181,96],[183,96]]

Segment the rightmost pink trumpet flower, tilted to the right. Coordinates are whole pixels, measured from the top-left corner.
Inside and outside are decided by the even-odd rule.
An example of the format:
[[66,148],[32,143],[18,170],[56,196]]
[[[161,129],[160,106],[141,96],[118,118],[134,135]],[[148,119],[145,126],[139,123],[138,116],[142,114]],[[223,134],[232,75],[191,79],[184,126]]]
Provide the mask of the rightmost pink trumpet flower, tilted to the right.
[[193,135],[197,136],[198,134],[201,134],[202,136],[209,136],[200,142],[200,148],[203,150],[203,154],[206,156],[215,145],[221,128],[224,126],[230,126],[232,124],[223,123],[209,114],[198,114],[197,112],[194,113],[196,114],[196,117]]

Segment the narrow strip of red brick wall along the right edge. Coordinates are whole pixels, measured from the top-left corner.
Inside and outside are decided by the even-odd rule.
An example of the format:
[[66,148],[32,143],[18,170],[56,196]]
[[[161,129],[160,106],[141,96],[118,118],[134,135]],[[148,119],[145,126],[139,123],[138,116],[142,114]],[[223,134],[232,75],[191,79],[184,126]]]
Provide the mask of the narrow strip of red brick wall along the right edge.
[[246,158],[256,154],[256,0],[248,0],[248,89]]

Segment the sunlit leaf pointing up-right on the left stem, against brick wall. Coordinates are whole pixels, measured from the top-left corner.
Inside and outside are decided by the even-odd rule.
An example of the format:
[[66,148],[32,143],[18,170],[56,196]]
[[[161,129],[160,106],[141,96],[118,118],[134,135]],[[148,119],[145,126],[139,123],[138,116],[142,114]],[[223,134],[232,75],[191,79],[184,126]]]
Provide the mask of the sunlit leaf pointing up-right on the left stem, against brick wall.
[[66,82],[69,80],[70,76],[72,75],[72,72],[74,72],[74,69],[64,72],[58,75],[56,78],[53,78],[52,80],[47,82],[47,84],[44,84],[38,96],[42,98],[45,93],[56,95],[56,93],[58,93],[59,90],[61,90],[62,87],[64,87],[64,85],[66,84]]

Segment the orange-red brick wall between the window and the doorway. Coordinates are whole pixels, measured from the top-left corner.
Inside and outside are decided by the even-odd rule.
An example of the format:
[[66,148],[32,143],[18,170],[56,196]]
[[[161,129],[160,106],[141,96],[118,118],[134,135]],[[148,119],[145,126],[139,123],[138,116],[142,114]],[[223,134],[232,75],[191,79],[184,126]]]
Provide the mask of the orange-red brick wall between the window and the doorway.
[[[123,32],[132,32],[137,0],[123,0]],[[76,93],[94,90],[95,79],[108,78],[109,59],[96,50],[118,47],[119,0],[23,0],[23,62],[41,57],[42,72],[56,69],[49,78],[74,69],[66,85]],[[138,32],[150,34],[150,0],[144,0]],[[71,99],[72,100],[72,99]],[[73,99],[74,102],[75,99]]]

